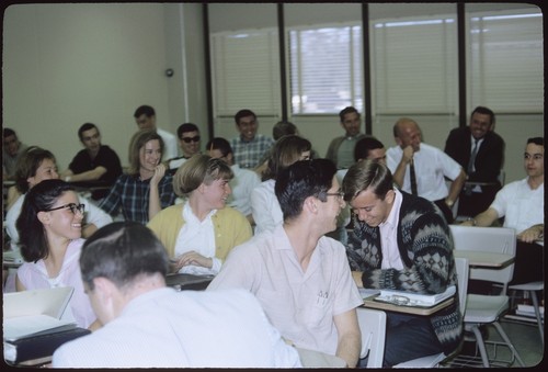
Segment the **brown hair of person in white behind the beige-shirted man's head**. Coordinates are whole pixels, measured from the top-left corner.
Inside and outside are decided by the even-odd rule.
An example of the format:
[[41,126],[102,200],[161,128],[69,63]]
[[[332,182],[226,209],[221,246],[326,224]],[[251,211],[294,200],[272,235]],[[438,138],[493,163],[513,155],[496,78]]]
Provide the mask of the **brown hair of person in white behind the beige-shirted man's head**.
[[276,179],[277,174],[292,164],[300,159],[300,155],[310,151],[312,144],[300,136],[283,136],[270,150],[267,168],[263,173],[262,180]]

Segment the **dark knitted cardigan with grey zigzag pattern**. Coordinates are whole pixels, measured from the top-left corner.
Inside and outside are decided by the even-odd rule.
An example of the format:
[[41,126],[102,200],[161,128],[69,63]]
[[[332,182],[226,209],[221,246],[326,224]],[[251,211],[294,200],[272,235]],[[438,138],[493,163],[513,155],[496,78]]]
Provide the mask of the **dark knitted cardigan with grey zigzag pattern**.
[[[457,285],[453,240],[443,214],[431,202],[401,193],[398,247],[403,270],[381,270],[383,251],[378,227],[354,221],[346,255],[352,270],[363,271],[364,288],[434,294]],[[463,339],[458,294],[455,302],[430,316],[444,352],[453,352]]]

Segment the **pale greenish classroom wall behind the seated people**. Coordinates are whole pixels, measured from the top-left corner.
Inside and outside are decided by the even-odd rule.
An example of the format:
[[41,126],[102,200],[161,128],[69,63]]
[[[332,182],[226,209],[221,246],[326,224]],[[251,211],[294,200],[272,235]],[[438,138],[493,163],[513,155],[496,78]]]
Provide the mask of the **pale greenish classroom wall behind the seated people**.
[[[215,5],[215,7],[213,7]],[[235,4],[236,5],[236,4]],[[242,5],[242,4],[240,4]],[[354,7],[358,15],[359,4]],[[444,4],[447,7],[447,4]],[[127,165],[129,138],[136,131],[135,109],[155,106],[160,127],[175,133],[183,122],[196,123],[207,137],[204,37],[201,3],[15,4],[3,22],[3,126],[27,145],[39,145],[67,168],[82,147],[78,127],[93,122],[103,144]],[[226,30],[240,15],[247,26],[275,24],[273,3],[246,4],[253,18],[232,4],[212,4],[210,30]],[[339,5],[287,4],[287,23],[338,20]],[[293,8],[292,8],[293,7]],[[216,10],[214,10],[214,8]],[[312,11],[313,10],[313,11]],[[322,18],[324,14],[329,16]],[[227,23],[227,24],[225,24]],[[167,68],[174,75],[165,77]],[[472,103],[473,104],[473,103]],[[252,108],[251,108],[252,109]],[[456,116],[413,116],[424,142],[444,147]],[[277,117],[260,117],[260,133],[272,134]],[[331,138],[342,134],[338,115],[289,117],[323,156]],[[393,146],[397,117],[374,117],[373,134]],[[233,120],[215,125],[216,136],[237,135]],[[544,135],[544,115],[498,115],[496,132],[506,140],[506,182],[524,177],[525,140]]]

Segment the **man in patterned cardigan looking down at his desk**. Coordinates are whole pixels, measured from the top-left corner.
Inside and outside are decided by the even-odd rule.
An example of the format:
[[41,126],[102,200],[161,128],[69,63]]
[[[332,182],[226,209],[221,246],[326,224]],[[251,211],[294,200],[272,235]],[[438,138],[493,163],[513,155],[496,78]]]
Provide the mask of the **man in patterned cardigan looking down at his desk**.
[[[357,217],[346,255],[358,288],[435,294],[456,285],[453,240],[435,204],[396,189],[390,170],[372,160],[349,169],[343,191]],[[431,316],[387,313],[384,367],[453,352],[461,318],[458,294]]]

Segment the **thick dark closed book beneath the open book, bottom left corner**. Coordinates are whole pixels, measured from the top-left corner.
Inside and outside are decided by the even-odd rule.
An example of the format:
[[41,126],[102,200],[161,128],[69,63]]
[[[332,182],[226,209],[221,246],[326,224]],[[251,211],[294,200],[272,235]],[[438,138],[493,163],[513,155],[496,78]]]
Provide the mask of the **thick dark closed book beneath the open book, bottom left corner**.
[[91,334],[89,329],[72,327],[68,330],[24,337],[12,341],[4,340],[4,360],[16,364],[28,360],[52,357],[54,351],[62,343],[89,334]]

